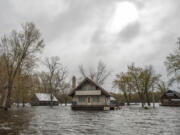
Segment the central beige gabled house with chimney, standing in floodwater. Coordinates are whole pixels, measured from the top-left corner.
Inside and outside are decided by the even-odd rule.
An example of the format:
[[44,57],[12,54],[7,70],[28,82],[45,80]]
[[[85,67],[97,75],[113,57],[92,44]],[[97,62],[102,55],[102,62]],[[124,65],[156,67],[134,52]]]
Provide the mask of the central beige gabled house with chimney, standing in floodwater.
[[89,78],[85,78],[76,87],[73,77],[73,89],[69,93],[72,97],[73,110],[109,110],[110,94]]

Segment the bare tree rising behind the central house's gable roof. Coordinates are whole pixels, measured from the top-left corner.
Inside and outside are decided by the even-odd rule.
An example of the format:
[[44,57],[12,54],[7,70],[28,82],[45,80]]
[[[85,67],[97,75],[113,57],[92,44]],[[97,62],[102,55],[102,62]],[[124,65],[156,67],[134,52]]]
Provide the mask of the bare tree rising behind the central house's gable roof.
[[102,61],[98,62],[96,70],[90,67],[85,70],[83,65],[79,66],[79,72],[83,78],[89,77],[99,85],[103,85],[105,80],[110,76],[111,72],[107,70],[107,66]]

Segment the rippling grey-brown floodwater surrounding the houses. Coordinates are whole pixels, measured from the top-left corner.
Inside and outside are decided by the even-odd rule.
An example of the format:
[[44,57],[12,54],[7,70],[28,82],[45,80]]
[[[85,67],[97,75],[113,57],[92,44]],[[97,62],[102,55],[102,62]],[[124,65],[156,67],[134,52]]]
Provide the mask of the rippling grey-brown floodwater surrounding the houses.
[[180,107],[72,111],[70,106],[0,110],[0,135],[180,135]]

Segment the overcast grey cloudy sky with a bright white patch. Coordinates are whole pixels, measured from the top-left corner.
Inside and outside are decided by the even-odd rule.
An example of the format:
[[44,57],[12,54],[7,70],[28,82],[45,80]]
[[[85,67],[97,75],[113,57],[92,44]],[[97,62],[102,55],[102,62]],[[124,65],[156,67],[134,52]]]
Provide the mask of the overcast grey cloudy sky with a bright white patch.
[[166,78],[163,62],[180,36],[179,9],[180,0],[1,0],[0,35],[34,22],[46,43],[42,56],[59,56],[70,76],[80,64],[102,60],[113,75],[134,62]]

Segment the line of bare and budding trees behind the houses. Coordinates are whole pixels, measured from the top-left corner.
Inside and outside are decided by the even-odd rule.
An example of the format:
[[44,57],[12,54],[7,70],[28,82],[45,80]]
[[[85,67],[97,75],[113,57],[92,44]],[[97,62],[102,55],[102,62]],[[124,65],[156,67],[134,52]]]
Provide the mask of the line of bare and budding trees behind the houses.
[[[179,40],[180,41],[180,40]],[[180,42],[178,42],[180,45]],[[39,29],[34,23],[25,23],[20,31],[13,30],[0,40],[0,106],[7,110],[12,103],[27,103],[37,92],[55,95],[61,103],[71,102],[68,92],[71,90],[71,77],[57,56],[40,60],[45,47]],[[159,102],[162,93],[170,89],[174,82],[180,81],[180,46],[167,56],[165,66],[169,81],[161,80],[153,66],[139,67],[135,64],[127,66],[126,72],[116,74],[112,86],[119,93],[113,94],[121,102]],[[35,72],[37,65],[44,70]],[[121,67],[119,67],[121,69]],[[112,71],[99,61],[96,67],[85,69],[79,66],[78,81],[89,77],[99,85],[103,85]],[[112,77],[112,76],[111,76]]]

